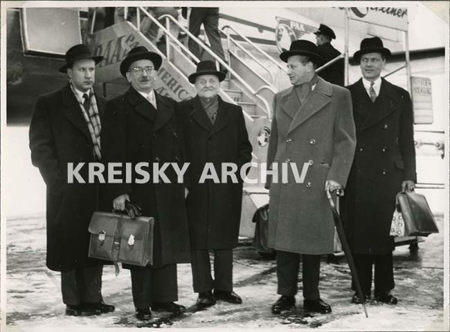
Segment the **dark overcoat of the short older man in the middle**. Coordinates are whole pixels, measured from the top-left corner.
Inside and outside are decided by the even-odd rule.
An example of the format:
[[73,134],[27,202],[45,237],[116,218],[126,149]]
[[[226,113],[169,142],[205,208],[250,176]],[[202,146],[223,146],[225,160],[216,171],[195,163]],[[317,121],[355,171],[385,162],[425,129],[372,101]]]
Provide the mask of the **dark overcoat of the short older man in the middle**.
[[[199,97],[179,103],[190,192],[186,201],[192,248],[230,249],[237,246],[242,208],[241,166],[251,161],[251,144],[242,108],[219,98],[213,125]],[[206,163],[212,163],[222,182],[222,163],[237,165],[237,183],[207,180],[199,183]]]

